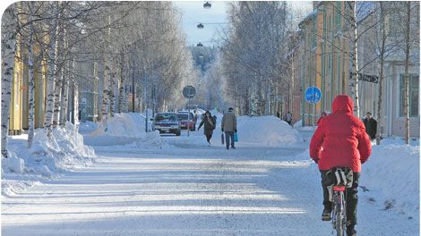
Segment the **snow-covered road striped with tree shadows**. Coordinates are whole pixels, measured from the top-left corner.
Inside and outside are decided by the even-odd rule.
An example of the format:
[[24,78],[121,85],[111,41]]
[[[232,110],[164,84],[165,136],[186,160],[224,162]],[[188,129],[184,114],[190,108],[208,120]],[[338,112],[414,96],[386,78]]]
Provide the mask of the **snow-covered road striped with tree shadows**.
[[[191,138],[173,147],[97,147],[93,166],[4,197],[3,235],[331,235],[306,145]],[[183,140],[178,141],[178,140]],[[364,175],[363,177],[364,178]],[[360,196],[359,235],[418,235],[414,223]]]

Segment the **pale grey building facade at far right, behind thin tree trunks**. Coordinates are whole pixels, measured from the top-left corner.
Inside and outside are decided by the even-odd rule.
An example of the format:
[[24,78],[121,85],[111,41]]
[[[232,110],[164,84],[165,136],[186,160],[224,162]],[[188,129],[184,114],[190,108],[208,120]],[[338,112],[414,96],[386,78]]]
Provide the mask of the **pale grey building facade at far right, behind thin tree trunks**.
[[[405,117],[403,105],[403,79],[405,75],[404,28],[402,27],[406,13],[405,2],[379,2],[368,5],[370,12],[358,22],[359,65],[363,80],[359,81],[360,114],[363,117],[371,112],[374,118],[381,120],[382,137],[404,136]],[[411,45],[409,74],[409,136],[419,138],[419,3],[412,2],[411,11]],[[381,18],[384,18],[384,25]],[[401,23],[399,23],[401,22]],[[384,28],[384,29],[383,29]],[[369,30],[366,30],[369,29]],[[385,30],[382,34],[382,30]],[[385,38],[385,56],[382,81],[382,111],[379,114],[378,102],[380,94],[379,51],[381,39]],[[418,41],[417,41],[418,38]],[[361,118],[362,118],[361,117]]]

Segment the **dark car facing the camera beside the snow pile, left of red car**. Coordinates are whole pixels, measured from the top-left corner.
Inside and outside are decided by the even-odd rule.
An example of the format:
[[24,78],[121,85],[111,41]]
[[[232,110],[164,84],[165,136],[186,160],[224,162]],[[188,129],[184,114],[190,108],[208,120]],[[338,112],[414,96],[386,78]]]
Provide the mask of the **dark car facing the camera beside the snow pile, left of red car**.
[[159,133],[174,133],[180,136],[181,128],[176,113],[159,113],[155,114],[152,122],[152,131],[159,131]]

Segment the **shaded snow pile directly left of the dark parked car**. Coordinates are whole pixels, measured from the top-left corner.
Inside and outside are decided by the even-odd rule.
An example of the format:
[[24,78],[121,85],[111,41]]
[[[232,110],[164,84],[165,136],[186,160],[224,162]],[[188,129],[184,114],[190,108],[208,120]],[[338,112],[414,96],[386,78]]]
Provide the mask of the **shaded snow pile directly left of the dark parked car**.
[[159,131],[145,131],[143,114],[115,114],[107,119],[107,126],[98,125],[97,130],[85,136],[85,144],[91,146],[128,145],[134,147],[163,147],[166,145]]

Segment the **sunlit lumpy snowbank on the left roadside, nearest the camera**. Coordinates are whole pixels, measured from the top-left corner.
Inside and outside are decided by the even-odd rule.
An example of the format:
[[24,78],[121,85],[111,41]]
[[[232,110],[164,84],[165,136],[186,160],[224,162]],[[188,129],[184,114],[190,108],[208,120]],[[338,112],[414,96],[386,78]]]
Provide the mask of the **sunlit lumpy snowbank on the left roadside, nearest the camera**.
[[95,153],[83,144],[77,128],[67,122],[48,139],[44,129],[35,130],[32,146],[28,135],[8,138],[8,158],[2,158],[2,193],[12,195],[38,181],[57,177],[66,170],[92,164]]

